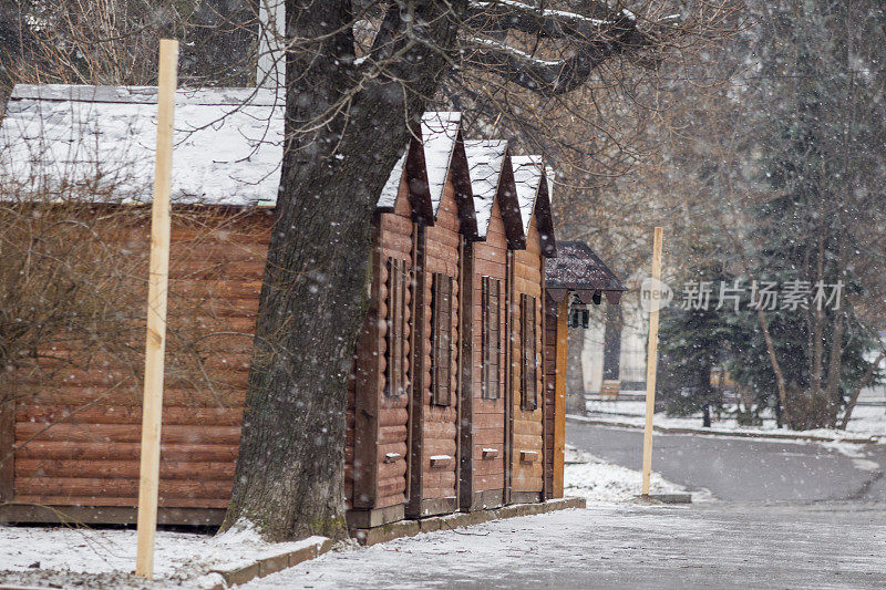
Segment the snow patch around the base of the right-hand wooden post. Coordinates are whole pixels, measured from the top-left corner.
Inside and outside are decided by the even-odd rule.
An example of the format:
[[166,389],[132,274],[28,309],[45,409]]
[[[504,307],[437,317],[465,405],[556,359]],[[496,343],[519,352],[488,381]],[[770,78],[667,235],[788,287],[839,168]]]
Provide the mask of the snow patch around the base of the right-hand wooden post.
[[[608,503],[627,503],[640,493],[641,474],[633,469],[607,463],[573,446],[566,446],[564,490],[566,496],[587,498],[588,506]],[[687,489],[652,473],[649,480],[652,494],[686,493]],[[707,490],[693,490],[694,501],[711,499]]]

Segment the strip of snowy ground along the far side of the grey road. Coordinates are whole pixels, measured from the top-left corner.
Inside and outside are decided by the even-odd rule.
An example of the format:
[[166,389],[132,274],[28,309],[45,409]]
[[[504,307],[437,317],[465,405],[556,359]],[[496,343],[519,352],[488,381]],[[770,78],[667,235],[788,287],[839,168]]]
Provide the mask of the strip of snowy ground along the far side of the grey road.
[[[587,402],[588,417],[595,421],[612,422],[618,424],[630,424],[642,426],[646,416],[646,402],[641,401],[589,401]],[[701,414],[686,417],[667,416],[659,412],[655,416],[656,426],[667,428],[701,428]],[[741,433],[766,433],[777,431],[780,434],[791,433],[792,431],[779,429],[775,417],[763,415],[761,426],[740,426],[734,417],[723,414],[723,420],[714,422],[711,432],[741,432]],[[846,431],[834,431],[830,428],[818,428],[814,431],[803,431],[803,434],[813,436],[827,436],[842,438],[846,436],[884,436],[886,437],[886,406],[863,405],[855,408],[853,417]]]

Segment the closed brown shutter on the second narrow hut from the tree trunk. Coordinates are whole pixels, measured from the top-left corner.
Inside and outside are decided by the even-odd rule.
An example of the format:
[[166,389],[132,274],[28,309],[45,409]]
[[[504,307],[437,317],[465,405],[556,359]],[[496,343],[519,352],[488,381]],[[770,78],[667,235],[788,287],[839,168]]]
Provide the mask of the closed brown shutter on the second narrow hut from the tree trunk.
[[431,297],[431,403],[452,398],[452,277],[434,272]]

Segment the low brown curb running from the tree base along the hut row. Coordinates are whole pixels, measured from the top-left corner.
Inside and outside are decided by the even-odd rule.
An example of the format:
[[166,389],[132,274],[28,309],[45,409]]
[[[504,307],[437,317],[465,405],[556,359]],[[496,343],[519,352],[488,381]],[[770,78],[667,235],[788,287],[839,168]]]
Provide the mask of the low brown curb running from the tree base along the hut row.
[[[419,532],[433,532],[435,530],[467,527],[501,518],[540,515],[569,508],[585,508],[586,505],[585,498],[558,498],[539,504],[515,504],[494,510],[456,513],[454,515],[432,516],[430,518],[422,518],[421,520],[400,520],[371,529],[352,529],[351,537],[356,538],[360,545],[370,546],[400,537],[414,537]],[[321,542],[301,547],[295,551],[266,557],[246,566],[233,569],[209,570],[208,573],[217,573],[225,580],[224,583],[216,584],[212,590],[226,590],[233,586],[239,586],[255,580],[256,578],[264,578],[265,576],[291,568],[309,559],[316,559],[332,549],[333,545],[334,542],[331,539],[326,539]]]

